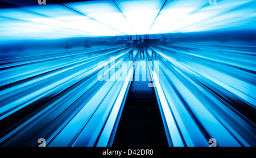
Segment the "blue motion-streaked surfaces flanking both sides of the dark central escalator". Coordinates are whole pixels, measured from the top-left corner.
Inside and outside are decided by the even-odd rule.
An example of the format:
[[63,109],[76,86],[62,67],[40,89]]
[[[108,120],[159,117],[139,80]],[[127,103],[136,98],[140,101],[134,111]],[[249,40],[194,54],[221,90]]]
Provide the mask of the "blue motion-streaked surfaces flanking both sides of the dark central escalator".
[[[124,69],[117,67],[132,61],[130,50],[138,57],[132,48],[2,55],[1,146],[37,146],[39,138],[47,146],[106,146],[129,84],[98,80],[97,66]],[[148,47],[148,59],[159,62],[152,77],[170,146],[209,146],[210,138],[217,146],[255,146],[255,50],[221,42]]]

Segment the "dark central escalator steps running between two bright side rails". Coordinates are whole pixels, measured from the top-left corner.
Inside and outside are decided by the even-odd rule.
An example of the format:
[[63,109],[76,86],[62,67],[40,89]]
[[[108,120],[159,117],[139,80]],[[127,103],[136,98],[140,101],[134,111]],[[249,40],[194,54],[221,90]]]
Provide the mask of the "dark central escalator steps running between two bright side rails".
[[[140,59],[140,61],[146,59]],[[146,65],[144,65],[146,66]],[[135,75],[147,76],[146,66],[136,67]],[[163,147],[168,146],[162,117],[150,80],[133,80],[113,140],[113,147]]]

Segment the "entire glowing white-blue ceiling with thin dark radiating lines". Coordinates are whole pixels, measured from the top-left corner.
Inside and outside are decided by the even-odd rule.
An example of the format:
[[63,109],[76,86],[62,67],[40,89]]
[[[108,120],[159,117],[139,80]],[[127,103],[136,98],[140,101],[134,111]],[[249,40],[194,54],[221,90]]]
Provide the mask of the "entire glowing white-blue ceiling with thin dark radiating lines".
[[164,1],[115,3],[87,1],[66,3],[70,8],[45,5],[0,9],[0,40],[254,29],[256,23],[253,0],[225,0],[217,5],[209,5],[205,0],[167,1],[162,11]]

